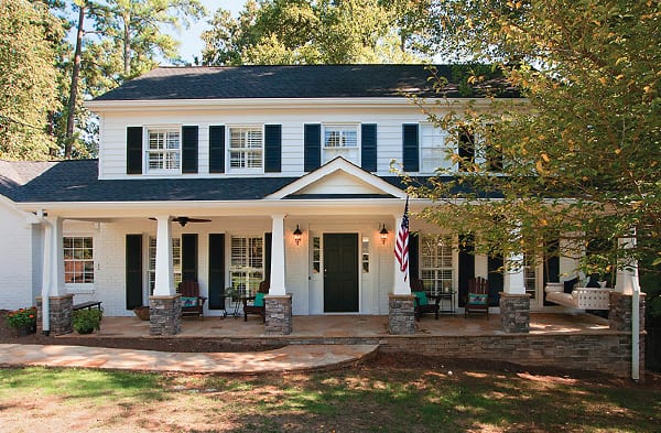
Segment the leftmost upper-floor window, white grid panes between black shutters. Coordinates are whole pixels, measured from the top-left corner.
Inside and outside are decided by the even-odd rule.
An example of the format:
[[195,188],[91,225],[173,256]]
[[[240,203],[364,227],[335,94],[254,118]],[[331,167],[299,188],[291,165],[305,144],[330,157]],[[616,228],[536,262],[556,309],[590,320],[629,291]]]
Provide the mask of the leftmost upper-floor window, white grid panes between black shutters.
[[180,173],[182,139],[180,128],[147,130],[147,172]]

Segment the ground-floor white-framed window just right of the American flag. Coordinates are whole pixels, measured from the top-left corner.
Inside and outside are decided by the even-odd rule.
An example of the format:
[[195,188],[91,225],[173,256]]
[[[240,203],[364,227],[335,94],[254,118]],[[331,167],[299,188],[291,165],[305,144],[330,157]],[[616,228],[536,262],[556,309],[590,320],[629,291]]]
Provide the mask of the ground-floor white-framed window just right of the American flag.
[[[420,234],[420,279],[424,283],[424,289],[430,295],[437,295],[451,291],[456,292],[455,286],[455,264],[457,258],[453,248],[454,238],[442,234]],[[434,257],[425,257],[425,241],[433,241],[436,246],[443,242],[442,250],[436,250]],[[447,261],[449,260],[449,262]],[[427,262],[427,261],[433,261]],[[432,278],[430,278],[430,275]]]

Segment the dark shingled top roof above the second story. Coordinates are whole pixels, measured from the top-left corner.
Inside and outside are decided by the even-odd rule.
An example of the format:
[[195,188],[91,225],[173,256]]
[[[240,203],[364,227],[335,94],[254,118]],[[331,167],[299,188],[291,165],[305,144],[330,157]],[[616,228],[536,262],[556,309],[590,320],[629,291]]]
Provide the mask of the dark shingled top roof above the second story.
[[[437,74],[452,80],[448,65]],[[300,65],[159,67],[97,97],[97,101],[241,98],[371,98],[440,96],[424,65]],[[476,94],[498,88],[499,96],[514,96],[502,80],[477,86]],[[460,97],[448,84],[442,94]]]

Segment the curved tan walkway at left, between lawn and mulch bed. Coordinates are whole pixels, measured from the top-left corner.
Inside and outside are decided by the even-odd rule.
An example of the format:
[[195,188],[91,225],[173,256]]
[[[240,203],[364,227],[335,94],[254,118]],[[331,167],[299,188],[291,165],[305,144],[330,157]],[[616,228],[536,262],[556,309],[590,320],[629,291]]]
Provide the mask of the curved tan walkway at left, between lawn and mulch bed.
[[258,375],[329,370],[365,360],[378,345],[290,345],[250,353],[166,353],[86,346],[0,344],[0,366]]

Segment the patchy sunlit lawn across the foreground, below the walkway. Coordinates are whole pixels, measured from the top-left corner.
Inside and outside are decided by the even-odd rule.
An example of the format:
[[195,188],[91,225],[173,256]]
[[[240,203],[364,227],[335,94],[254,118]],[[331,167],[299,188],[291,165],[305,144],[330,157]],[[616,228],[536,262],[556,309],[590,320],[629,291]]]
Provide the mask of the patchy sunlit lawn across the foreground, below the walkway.
[[383,366],[235,378],[0,369],[0,425],[44,423],[63,432],[658,432],[661,391]]

